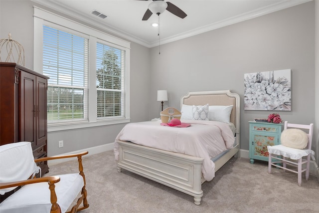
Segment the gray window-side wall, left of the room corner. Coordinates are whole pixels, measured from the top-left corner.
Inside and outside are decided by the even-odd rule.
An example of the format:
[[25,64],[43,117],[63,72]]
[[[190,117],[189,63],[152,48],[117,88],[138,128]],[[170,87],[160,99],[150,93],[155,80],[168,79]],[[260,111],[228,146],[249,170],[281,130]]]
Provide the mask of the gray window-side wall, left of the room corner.
[[[8,32],[11,32],[12,39],[17,40],[23,45],[25,52],[25,66],[30,69],[33,69],[33,5],[43,7],[29,0],[0,1],[0,38],[7,38]],[[131,43],[130,104],[132,122],[146,121],[149,119],[149,53],[149,48],[134,42]],[[117,124],[49,132],[48,155],[58,155],[113,143],[115,137],[124,125],[125,124]],[[60,140],[64,141],[63,148],[58,148],[58,141]]]

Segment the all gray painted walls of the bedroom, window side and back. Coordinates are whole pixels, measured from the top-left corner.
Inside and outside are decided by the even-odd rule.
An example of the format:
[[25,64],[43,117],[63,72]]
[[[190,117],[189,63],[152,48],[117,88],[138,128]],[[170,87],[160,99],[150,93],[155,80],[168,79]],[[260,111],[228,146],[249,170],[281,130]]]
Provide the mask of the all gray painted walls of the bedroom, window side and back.
[[[24,46],[25,65],[31,69],[33,5],[28,0],[0,1],[0,38],[11,32],[12,38]],[[167,43],[160,49],[159,55],[158,47],[149,49],[131,43],[132,122],[159,117],[159,89],[168,91],[169,101],[164,102],[164,107],[176,108],[180,96],[188,91],[230,89],[241,96],[241,149],[248,150],[248,121],[272,112],[243,110],[244,73],[279,69],[292,69],[292,111],[279,112],[281,117],[290,122],[315,122],[314,1]],[[316,70],[318,81],[318,66]],[[112,143],[123,126],[50,132],[48,154]],[[64,140],[60,149],[59,140]],[[317,144],[318,140],[314,150]]]

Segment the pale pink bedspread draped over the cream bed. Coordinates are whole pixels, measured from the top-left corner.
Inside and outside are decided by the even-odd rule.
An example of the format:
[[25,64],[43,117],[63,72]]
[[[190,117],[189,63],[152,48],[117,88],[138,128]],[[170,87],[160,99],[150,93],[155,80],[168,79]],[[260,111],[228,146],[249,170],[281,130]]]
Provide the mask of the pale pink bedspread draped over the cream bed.
[[215,164],[210,160],[231,149],[234,135],[227,124],[217,121],[181,120],[186,128],[161,126],[160,121],[129,123],[118,134],[114,144],[115,159],[119,160],[118,140],[131,141],[147,147],[201,157],[206,181],[215,177]]

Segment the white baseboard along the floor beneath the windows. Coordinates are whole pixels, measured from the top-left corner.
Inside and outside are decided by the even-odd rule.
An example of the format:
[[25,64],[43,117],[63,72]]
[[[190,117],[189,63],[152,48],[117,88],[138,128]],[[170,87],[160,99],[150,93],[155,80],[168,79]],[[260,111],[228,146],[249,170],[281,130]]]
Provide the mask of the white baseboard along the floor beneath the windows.
[[[90,148],[83,149],[83,150],[68,152],[68,153],[64,153],[61,155],[71,155],[71,154],[76,154],[76,153],[83,152],[83,151],[88,151],[89,154],[83,156],[83,158],[85,158],[85,157],[90,156],[90,155],[113,150],[113,147],[114,147],[114,143],[110,143],[110,144],[105,144],[105,145],[101,145],[101,146],[90,147]],[[57,156],[60,156],[60,155],[57,155]],[[74,160],[74,158],[63,158],[63,159],[51,160],[51,161],[48,161],[48,166],[50,167],[51,165],[64,163],[64,162],[67,162],[70,160]]]

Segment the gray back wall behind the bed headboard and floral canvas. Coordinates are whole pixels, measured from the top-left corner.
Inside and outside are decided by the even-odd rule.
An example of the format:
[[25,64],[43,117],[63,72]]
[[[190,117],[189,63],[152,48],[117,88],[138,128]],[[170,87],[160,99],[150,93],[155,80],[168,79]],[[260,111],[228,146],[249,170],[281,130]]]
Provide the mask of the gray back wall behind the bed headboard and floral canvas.
[[188,91],[230,89],[241,97],[241,149],[248,150],[248,121],[273,111],[244,110],[244,73],[291,69],[292,111],[279,114],[289,122],[315,123],[314,3],[164,44],[160,55],[152,48],[151,117],[159,117],[158,89],[167,89],[165,104],[176,108]]

